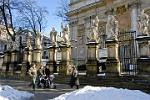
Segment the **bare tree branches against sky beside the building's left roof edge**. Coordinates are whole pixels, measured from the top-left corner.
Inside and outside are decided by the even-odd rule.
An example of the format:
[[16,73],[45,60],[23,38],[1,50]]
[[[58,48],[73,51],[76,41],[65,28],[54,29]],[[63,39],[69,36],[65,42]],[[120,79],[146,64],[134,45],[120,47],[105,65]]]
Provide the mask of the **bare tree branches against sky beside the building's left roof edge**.
[[63,21],[69,21],[67,13],[69,12],[69,0],[60,0],[56,16],[62,18]]

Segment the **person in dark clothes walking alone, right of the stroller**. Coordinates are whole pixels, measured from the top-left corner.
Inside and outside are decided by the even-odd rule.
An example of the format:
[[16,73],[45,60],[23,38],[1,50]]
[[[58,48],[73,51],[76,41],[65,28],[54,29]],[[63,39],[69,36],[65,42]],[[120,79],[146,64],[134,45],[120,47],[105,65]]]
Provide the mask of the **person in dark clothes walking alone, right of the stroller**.
[[76,89],[79,89],[79,78],[78,78],[78,71],[75,66],[72,67],[72,74],[70,79],[70,87],[76,85]]

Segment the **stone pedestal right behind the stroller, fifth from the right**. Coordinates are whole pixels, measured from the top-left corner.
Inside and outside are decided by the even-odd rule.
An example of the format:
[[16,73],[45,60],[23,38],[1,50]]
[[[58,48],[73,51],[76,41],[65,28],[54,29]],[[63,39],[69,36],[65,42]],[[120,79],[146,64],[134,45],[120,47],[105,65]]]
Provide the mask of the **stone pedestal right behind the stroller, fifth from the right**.
[[54,73],[57,71],[56,66],[56,47],[52,46],[48,48],[49,51],[49,61],[47,63],[47,66],[49,67],[49,70],[51,73]]

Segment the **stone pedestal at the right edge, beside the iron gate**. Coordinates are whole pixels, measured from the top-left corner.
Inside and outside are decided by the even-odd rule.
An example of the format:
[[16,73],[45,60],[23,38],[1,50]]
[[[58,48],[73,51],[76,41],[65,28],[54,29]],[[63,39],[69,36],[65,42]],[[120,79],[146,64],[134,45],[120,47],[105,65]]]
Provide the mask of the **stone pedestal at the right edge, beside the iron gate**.
[[150,36],[138,36],[139,59],[137,65],[139,74],[150,75]]

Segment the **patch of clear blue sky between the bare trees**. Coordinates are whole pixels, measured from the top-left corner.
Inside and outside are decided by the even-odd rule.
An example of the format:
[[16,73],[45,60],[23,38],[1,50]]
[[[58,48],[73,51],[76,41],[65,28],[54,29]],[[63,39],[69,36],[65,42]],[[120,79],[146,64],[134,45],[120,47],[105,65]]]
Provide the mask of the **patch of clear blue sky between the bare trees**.
[[58,32],[60,32],[61,29],[61,18],[58,18],[56,16],[57,8],[60,5],[60,0],[38,0],[38,3],[40,6],[44,6],[47,8],[49,14],[48,14],[48,22],[47,27],[45,29],[45,33],[43,33],[46,36],[49,36],[49,32],[51,31],[51,28],[54,26]]

